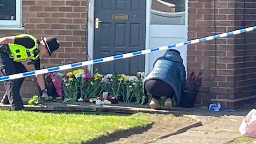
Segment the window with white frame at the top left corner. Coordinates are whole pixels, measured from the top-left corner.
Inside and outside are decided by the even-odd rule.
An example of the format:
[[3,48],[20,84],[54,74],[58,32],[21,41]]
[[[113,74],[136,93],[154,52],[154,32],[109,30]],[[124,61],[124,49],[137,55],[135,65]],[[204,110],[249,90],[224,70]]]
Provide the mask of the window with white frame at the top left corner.
[[22,28],[22,0],[0,0],[0,29]]

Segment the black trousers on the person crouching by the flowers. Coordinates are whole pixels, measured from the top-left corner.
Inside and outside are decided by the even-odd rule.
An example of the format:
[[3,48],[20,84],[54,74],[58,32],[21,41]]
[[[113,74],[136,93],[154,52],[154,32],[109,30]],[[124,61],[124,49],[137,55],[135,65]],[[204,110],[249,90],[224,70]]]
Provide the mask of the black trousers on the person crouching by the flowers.
[[148,93],[152,94],[153,98],[159,99],[160,97],[173,98],[173,88],[162,80],[148,80],[145,83],[145,89]]

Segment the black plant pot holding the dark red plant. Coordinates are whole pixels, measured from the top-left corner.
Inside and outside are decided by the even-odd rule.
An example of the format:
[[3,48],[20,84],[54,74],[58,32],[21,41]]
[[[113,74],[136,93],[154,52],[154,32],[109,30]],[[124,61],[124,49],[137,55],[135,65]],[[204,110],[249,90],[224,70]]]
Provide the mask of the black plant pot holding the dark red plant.
[[182,92],[180,106],[187,107],[187,108],[193,108],[195,101],[196,101],[197,94],[198,94],[198,91],[184,90]]

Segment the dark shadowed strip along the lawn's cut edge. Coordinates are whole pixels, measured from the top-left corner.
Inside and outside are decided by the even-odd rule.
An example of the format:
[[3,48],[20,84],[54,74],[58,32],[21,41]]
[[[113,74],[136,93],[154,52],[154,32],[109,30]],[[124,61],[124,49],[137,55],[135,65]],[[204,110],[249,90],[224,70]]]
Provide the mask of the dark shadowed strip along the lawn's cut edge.
[[94,138],[88,142],[81,142],[82,144],[105,144],[109,142],[114,142],[119,140],[120,138],[128,138],[133,134],[142,134],[143,132],[149,130],[152,128],[154,122],[151,124],[148,124],[146,126],[137,126],[134,128],[126,129],[126,130],[118,130],[111,134],[102,135],[98,138]]

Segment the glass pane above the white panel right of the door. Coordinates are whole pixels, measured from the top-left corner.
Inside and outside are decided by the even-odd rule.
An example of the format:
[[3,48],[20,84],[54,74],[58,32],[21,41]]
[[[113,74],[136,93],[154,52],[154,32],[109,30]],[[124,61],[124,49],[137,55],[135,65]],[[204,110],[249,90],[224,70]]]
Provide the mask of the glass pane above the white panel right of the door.
[[185,25],[186,0],[152,0],[151,24]]

